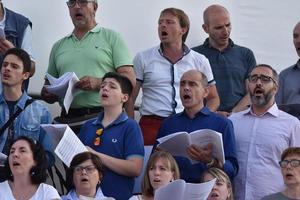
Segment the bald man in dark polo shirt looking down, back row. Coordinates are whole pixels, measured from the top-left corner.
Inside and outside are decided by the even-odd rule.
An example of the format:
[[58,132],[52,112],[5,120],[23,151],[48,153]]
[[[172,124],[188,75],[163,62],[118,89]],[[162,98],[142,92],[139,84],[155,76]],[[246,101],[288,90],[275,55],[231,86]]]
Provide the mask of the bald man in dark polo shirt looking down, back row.
[[209,37],[193,50],[208,58],[220,97],[218,112],[228,116],[250,104],[247,76],[256,60],[250,49],[238,46],[230,39],[231,22],[226,8],[209,6],[203,13],[203,21],[202,28]]

